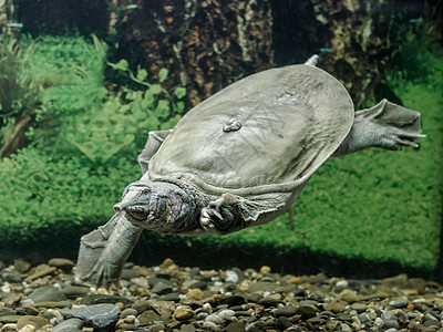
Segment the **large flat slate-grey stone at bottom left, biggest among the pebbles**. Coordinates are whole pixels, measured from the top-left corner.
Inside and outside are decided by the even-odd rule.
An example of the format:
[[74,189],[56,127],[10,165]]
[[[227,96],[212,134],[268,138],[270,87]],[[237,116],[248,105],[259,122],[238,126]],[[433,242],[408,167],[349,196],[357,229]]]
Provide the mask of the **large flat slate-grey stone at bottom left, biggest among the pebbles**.
[[63,312],[65,319],[81,319],[85,325],[99,331],[110,331],[120,318],[119,307],[110,303],[75,308]]

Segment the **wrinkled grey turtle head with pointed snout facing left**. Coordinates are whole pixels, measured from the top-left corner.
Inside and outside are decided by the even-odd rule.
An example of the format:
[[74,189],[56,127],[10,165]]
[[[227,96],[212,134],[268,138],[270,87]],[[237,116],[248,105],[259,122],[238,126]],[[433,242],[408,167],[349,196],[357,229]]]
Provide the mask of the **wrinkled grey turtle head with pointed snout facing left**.
[[178,186],[168,183],[140,180],[128,185],[122,201],[114,210],[125,211],[127,220],[143,228],[163,234],[188,230],[193,204]]

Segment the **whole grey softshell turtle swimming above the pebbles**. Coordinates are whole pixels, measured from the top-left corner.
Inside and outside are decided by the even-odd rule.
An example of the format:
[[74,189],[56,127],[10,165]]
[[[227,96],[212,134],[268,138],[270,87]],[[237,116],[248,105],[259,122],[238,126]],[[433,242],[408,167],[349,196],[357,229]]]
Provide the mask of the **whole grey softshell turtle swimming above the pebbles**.
[[354,112],[346,89],[315,66],[245,77],[190,110],[172,131],[150,133],[143,176],[111,220],[81,239],[76,277],[117,284],[144,228],[226,235],[287,211],[330,156],[369,147],[418,147],[420,113],[390,103]]

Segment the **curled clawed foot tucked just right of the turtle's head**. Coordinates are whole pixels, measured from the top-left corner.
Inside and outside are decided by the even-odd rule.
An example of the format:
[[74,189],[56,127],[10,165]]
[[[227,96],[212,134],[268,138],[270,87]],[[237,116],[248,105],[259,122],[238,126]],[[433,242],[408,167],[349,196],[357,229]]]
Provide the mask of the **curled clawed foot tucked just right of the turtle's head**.
[[217,200],[202,209],[200,226],[204,230],[217,235],[227,235],[245,228],[239,207],[241,199],[231,194],[223,194]]

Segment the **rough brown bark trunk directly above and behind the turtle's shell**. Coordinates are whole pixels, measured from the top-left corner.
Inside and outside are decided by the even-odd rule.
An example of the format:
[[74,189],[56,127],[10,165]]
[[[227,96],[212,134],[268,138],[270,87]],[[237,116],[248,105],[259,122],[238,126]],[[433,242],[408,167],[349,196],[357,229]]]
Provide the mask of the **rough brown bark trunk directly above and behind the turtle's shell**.
[[[126,3],[114,0],[113,4],[123,10]],[[168,69],[169,84],[186,85],[192,105],[272,65],[272,18],[266,0],[135,3],[117,32],[121,46],[136,48],[154,74]]]

